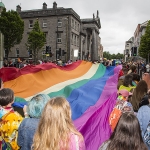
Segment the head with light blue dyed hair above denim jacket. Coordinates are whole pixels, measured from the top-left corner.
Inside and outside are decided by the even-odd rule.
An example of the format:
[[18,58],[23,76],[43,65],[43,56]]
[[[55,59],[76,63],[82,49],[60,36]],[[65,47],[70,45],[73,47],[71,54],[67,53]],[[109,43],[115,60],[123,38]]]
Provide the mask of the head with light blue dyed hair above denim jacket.
[[38,94],[34,96],[27,104],[28,115],[32,118],[40,118],[42,111],[50,97],[46,94]]

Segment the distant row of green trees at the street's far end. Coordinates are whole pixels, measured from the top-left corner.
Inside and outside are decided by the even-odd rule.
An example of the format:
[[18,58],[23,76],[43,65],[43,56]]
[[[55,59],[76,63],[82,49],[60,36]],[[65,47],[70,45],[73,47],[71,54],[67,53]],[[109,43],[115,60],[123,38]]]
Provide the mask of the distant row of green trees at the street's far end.
[[123,59],[124,55],[123,54],[110,54],[109,52],[103,52],[103,58],[107,59]]

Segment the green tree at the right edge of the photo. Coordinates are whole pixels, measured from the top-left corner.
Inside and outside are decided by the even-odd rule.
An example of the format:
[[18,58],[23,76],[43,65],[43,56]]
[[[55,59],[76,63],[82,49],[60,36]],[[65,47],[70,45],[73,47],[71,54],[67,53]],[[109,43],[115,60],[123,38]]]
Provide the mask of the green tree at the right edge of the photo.
[[145,34],[141,37],[139,56],[146,58],[150,53],[150,21],[148,21]]

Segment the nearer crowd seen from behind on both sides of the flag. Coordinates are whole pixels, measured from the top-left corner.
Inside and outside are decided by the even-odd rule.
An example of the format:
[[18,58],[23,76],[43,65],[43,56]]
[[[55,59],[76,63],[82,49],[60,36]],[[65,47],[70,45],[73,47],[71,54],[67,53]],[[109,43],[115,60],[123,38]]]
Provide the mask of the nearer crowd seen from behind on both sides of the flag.
[[[118,65],[118,64],[116,64]],[[108,122],[110,138],[99,150],[150,150],[150,72],[138,63],[122,63],[116,104]],[[64,97],[32,97],[23,114],[14,111],[14,92],[0,79],[0,147],[2,150],[85,150]]]

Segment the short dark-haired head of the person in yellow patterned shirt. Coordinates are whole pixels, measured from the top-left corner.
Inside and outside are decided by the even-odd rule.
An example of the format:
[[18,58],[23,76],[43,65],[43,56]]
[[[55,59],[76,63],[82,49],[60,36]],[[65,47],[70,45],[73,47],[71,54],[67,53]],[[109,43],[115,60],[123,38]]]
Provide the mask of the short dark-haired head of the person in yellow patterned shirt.
[[9,88],[3,88],[0,90],[0,105],[7,106],[8,104],[13,103],[14,101],[14,92]]

